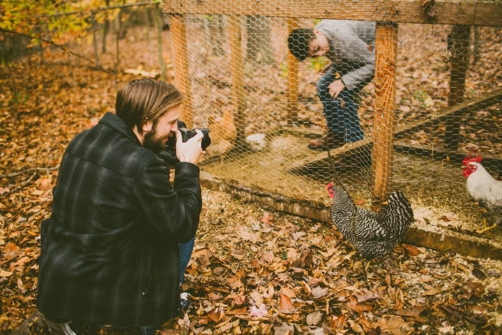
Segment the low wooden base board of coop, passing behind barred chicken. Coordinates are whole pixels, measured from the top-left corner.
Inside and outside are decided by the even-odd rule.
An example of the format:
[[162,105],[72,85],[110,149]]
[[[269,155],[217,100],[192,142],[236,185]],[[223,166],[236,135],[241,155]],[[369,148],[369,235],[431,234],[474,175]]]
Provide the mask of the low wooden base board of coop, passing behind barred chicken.
[[[236,198],[266,204],[277,211],[284,211],[316,221],[333,222],[330,214],[331,206],[324,202],[298,200],[284,195],[268,193],[263,190],[214,179],[207,174],[201,176],[201,186],[215,191],[231,193]],[[404,237],[404,242],[471,257],[502,260],[502,246],[499,244],[482,237],[467,237],[465,234],[452,232],[451,230],[431,232],[412,225]]]

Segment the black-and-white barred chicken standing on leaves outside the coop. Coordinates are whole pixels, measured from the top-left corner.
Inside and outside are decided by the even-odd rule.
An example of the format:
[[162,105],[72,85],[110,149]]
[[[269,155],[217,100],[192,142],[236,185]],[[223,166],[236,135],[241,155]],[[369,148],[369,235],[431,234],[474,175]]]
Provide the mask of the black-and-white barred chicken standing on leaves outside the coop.
[[[333,198],[331,216],[336,228],[357,248],[364,258],[381,258],[403,239],[413,222],[413,210],[403,193],[390,195],[386,209],[379,214],[356,207],[350,196],[333,184],[326,186]],[[353,237],[352,215],[355,212],[356,237]]]

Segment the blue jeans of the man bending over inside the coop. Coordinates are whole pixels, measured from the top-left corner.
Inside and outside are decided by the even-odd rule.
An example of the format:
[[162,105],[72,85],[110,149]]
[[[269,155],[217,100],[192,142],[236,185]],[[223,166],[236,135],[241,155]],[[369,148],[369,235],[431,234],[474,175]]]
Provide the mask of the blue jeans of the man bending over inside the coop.
[[363,140],[364,132],[360,127],[358,106],[353,101],[363,86],[356,89],[344,89],[336,99],[329,94],[329,84],[335,81],[335,71],[328,70],[317,82],[317,94],[324,107],[324,117],[328,129],[333,133],[344,135],[345,142]]

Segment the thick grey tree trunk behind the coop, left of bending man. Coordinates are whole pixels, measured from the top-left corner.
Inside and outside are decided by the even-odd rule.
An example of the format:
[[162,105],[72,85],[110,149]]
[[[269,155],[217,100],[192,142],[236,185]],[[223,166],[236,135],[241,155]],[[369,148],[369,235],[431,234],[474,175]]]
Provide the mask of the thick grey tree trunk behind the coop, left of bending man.
[[260,61],[266,64],[274,63],[270,18],[247,16],[246,27],[248,32],[246,59],[253,63]]

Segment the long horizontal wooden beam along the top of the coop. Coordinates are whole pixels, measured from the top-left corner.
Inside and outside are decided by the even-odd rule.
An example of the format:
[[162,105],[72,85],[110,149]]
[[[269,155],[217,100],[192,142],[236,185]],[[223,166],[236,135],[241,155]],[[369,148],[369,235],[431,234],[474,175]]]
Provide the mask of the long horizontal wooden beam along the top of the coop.
[[436,0],[436,16],[423,13],[420,0],[164,0],[166,13],[263,15],[320,19],[502,26],[502,3]]

